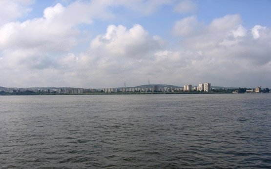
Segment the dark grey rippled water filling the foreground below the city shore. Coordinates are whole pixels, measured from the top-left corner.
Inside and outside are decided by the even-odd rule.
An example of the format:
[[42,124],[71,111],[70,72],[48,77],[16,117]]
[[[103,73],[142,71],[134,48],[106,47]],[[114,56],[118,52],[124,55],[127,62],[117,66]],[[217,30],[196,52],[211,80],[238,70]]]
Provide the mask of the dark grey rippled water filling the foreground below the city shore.
[[271,94],[0,96],[0,168],[271,168]]

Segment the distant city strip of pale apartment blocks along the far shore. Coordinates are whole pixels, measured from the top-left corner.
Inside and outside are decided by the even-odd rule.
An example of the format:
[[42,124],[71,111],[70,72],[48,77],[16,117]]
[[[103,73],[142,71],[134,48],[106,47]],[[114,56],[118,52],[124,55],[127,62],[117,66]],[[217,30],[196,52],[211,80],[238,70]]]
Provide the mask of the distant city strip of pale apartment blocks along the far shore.
[[154,94],[154,93],[270,93],[269,88],[229,88],[211,86],[211,83],[199,83],[198,86],[186,84],[184,87],[166,85],[166,84],[148,84],[137,87],[124,87],[118,88],[100,88],[100,89],[84,89],[72,87],[29,87],[29,88],[8,88],[0,87],[1,95],[28,95],[28,94]]

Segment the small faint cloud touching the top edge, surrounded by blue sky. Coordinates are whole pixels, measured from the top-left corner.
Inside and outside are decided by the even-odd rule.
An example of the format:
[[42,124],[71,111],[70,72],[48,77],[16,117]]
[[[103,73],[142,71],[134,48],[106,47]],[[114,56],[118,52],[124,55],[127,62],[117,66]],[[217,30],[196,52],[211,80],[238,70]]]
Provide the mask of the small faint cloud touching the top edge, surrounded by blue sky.
[[190,13],[197,10],[197,4],[192,0],[181,0],[173,9],[177,13]]

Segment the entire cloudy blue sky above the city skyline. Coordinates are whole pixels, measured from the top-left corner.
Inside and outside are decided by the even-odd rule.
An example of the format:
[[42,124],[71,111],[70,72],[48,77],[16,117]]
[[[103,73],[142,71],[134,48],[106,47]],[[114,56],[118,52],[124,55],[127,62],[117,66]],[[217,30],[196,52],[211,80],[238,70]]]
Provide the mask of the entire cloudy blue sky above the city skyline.
[[271,0],[0,0],[0,86],[271,87]]

